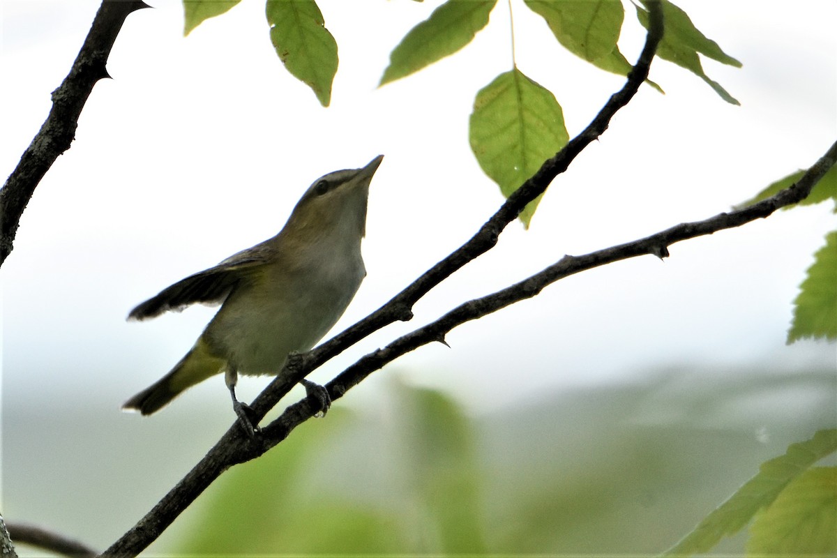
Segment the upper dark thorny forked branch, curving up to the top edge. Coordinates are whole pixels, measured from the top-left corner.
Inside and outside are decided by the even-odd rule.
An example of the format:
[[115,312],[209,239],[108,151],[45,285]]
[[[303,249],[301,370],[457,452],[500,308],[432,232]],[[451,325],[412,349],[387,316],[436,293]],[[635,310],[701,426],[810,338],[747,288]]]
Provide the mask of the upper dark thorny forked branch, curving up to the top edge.
[[[544,162],[541,169],[524,182],[516,192],[511,194],[500,209],[468,242],[440,261],[439,264],[434,265],[419,279],[416,279],[413,284],[395,295],[387,304],[375,310],[357,324],[352,325],[349,329],[312,351],[302,355],[292,354],[285,364],[285,369],[280,372],[280,375],[274,381],[270,382],[268,387],[252,403],[254,422],[258,422],[264,417],[265,413],[275,407],[297,381],[331,357],[345,351],[349,346],[357,343],[358,340],[362,340],[385,325],[398,320],[410,320],[413,317],[413,305],[424,294],[427,294],[430,289],[433,289],[450,274],[493,248],[503,229],[517,218],[526,204],[542,194],[555,177],[567,170],[570,163],[586,146],[607,130],[610,119],[619,109],[628,104],[639,90],[639,86],[648,77],[651,60],[654,59],[657,45],[660,44],[663,35],[663,15],[660,2],[659,0],[653,0],[648,4],[650,6],[649,31],[639,60],[628,75],[624,87],[610,97],[587,128],[569,141],[567,146],[564,146],[555,156]],[[334,389],[331,390],[336,397],[342,395],[342,392],[338,394],[334,391],[341,385],[336,384]],[[171,525],[177,516],[192,504],[194,499],[198,498],[198,495],[203,493],[203,490],[207,489],[220,474],[234,464],[257,458],[273,448],[287,437],[293,427],[313,416],[316,412],[315,407],[307,399],[295,403],[285,409],[280,419],[271,423],[262,436],[254,438],[245,437],[238,423],[234,423],[203,459],[168,494],[163,496],[145,517],[131,530],[128,530],[125,535],[122,535],[109,549],[105,550],[103,555],[134,556],[140,553],[153,540],[156,540],[162,534],[162,531],[168,525]]]

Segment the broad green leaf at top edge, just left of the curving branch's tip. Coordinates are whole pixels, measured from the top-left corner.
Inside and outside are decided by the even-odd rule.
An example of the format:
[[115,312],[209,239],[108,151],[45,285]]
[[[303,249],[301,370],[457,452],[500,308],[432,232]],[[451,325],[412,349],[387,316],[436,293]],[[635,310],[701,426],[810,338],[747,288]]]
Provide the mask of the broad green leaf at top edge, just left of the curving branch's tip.
[[614,52],[622,29],[619,0],[525,0],[564,48],[588,62]]

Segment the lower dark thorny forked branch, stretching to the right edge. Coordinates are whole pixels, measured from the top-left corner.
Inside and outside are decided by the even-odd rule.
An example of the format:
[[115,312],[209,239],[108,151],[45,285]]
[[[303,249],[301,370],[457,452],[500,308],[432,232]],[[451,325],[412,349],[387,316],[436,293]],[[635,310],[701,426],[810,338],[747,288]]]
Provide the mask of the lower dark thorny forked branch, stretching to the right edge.
[[[760,218],[767,218],[778,209],[793,205],[808,197],[814,185],[835,164],[837,164],[837,143],[834,143],[829,151],[814,166],[811,166],[796,184],[750,207],[729,213],[720,213],[702,221],[680,223],[660,233],[611,248],[597,250],[583,256],[564,256],[556,264],[517,284],[479,299],[470,300],[451,310],[439,320],[399,337],[383,349],[363,356],[326,384],[326,388],[332,399],[339,399],[373,371],[381,369],[398,356],[403,356],[419,346],[434,341],[444,342],[444,335],[457,325],[476,320],[520,300],[529,299],[539,294],[547,285],[555,283],[559,279],[641,255],[654,254],[660,258],[668,257],[668,247],[671,244],[706,236],[727,228],[737,228]],[[191,504],[203,492],[203,489],[207,488],[224,470],[235,463],[244,463],[251,458],[258,457],[268,449],[273,448],[287,438],[295,427],[313,417],[319,410],[320,406],[311,402],[308,398],[296,402],[287,407],[285,412],[274,422],[264,427],[261,436],[254,439],[245,438],[240,427],[234,424],[206,457],[154,506],[140,523],[111,546],[105,552],[105,555],[136,555],[146,545],[150,544],[151,540],[156,539],[167,525],[171,524],[177,514],[182,511],[180,506],[185,509],[185,506]],[[146,541],[146,538],[149,538],[149,540]]]

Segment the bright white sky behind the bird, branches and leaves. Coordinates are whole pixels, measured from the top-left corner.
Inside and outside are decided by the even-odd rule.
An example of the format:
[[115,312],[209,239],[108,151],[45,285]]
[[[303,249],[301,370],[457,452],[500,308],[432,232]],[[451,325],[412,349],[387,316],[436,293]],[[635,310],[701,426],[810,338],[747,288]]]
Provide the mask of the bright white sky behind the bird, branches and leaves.
[[[118,412],[187,351],[214,310],[142,324],[127,324],[127,311],[275,234],[327,171],[386,155],[372,182],[368,276],[338,329],[464,242],[501,203],[470,154],[467,122],[476,91],[510,68],[506,3],[459,54],[376,89],[389,50],[438,3],[322,0],[341,57],[328,109],[276,58],[264,3],[246,0],[188,38],[179,3],[151,3],[157,9],[127,19],[108,64],[114,79],[95,86],[3,266],[7,406],[71,406],[69,395],[92,393],[103,416]],[[98,5],[3,0],[3,177],[43,122]],[[667,95],[644,87],[553,183],[529,231],[512,224],[495,250],[420,302],[413,322],[365,340],[315,379],[564,253],[725,211],[827,149],[837,131],[837,3],[678,5],[744,64],[705,61],[742,106],[655,62],[651,78]],[[517,63],[557,95],[572,136],[624,79],[567,54],[539,17],[513,7]],[[644,35],[630,9],[626,21],[621,46],[634,60]],[[594,270],[454,330],[451,349],[425,347],[393,368],[463,399],[468,388],[469,407],[480,409],[670,364],[828,362],[833,346],[783,341],[796,287],[832,228],[828,209],[814,207],[677,244],[665,263],[648,256]],[[374,393],[377,381],[352,397]],[[184,397],[211,397],[229,412],[220,377],[206,383]],[[264,383],[245,379],[242,397]]]

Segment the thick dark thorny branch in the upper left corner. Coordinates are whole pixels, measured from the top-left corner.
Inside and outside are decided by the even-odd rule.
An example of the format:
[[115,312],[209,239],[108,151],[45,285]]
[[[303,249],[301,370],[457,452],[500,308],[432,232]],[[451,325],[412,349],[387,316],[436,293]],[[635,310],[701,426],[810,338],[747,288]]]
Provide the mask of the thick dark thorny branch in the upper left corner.
[[103,0],[73,67],[52,93],[53,106],[18,166],[0,190],[0,266],[12,252],[23,210],[59,155],[69,149],[90,91],[110,77],[105,69],[110,49],[128,14],[147,8],[141,0]]

